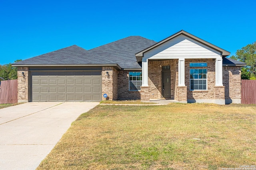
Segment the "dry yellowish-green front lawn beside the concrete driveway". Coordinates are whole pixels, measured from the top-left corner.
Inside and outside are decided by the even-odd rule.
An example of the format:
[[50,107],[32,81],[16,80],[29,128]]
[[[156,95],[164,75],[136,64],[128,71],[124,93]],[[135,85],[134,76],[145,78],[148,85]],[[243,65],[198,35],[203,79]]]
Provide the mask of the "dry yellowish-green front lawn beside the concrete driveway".
[[72,123],[38,170],[254,165],[255,110],[255,105],[99,105]]

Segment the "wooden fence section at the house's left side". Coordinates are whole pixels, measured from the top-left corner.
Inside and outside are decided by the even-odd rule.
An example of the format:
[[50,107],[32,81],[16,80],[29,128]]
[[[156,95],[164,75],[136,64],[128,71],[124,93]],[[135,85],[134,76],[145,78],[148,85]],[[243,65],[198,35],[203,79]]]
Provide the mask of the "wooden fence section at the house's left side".
[[0,85],[0,104],[18,103],[18,80],[4,80]]

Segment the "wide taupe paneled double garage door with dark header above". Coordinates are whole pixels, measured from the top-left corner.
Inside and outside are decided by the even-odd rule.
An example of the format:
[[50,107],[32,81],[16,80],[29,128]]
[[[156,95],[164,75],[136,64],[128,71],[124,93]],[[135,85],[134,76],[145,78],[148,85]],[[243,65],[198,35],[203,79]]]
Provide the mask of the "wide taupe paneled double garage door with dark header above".
[[101,71],[31,72],[32,102],[100,101]]

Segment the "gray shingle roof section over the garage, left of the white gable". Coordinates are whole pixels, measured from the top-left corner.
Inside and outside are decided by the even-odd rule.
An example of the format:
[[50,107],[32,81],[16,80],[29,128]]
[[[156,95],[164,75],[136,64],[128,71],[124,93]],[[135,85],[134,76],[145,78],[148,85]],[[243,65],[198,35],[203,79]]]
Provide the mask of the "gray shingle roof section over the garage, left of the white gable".
[[156,42],[140,36],[130,36],[89,51],[72,45],[14,65],[118,64],[121,68],[141,68],[136,62],[135,53],[154,43]]

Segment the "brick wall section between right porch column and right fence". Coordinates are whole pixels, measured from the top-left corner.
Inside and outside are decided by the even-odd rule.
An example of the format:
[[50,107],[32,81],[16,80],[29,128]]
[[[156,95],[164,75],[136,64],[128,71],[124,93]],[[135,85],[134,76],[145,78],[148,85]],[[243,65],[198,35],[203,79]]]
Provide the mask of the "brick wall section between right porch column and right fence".
[[241,103],[241,67],[224,66],[222,71],[226,104]]

